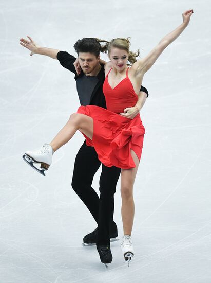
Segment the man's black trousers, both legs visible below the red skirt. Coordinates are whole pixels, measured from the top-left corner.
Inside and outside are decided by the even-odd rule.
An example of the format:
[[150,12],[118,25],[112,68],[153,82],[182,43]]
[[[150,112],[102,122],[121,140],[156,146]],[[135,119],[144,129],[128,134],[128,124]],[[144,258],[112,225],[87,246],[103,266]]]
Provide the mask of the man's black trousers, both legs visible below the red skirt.
[[85,141],[75,158],[72,188],[98,223],[97,243],[108,244],[110,242],[110,232],[112,232],[115,225],[113,221],[113,196],[116,192],[121,169],[115,166],[106,167],[102,164],[99,199],[91,184],[100,165],[101,162],[95,149],[88,147]]

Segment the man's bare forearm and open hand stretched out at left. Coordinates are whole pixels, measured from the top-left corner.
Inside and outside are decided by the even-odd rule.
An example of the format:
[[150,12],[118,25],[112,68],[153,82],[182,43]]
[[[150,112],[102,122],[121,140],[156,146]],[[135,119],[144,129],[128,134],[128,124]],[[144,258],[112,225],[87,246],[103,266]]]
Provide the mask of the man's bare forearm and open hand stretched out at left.
[[40,54],[45,55],[53,59],[57,59],[57,53],[60,52],[60,50],[47,48],[47,47],[41,47],[37,45],[31,37],[27,36],[29,40],[26,40],[24,38],[20,39],[20,44],[24,46],[25,48],[29,49],[31,51],[30,56],[34,54]]

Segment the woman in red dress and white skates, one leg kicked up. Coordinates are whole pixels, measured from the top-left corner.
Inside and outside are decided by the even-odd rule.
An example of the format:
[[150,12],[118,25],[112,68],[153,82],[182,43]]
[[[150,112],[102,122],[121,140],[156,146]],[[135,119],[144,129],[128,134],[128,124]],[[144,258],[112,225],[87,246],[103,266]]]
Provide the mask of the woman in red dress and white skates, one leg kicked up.
[[[53,153],[65,145],[77,130],[81,131],[88,143],[94,146],[99,160],[106,166],[117,166],[121,171],[122,222],[124,236],[121,248],[125,260],[134,255],[131,232],[134,218],[133,184],[143,146],[145,129],[140,115],[130,120],[119,113],[128,102],[131,107],[137,102],[144,74],[151,68],[163,50],[187,27],[193,10],[182,14],[183,23],[167,34],[149,54],[136,61],[137,54],[129,51],[128,39],[113,39],[103,47],[108,50],[110,62],[105,65],[106,79],[103,86],[107,110],[94,106],[81,106],[77,113],[70,116],[64,128],[54,137],[50,144],[45,144],[41,150],[27,151],[23,158],[33,166],[40,163],[41,173],[48,169]],[[80,60],[80,58],[79,58]],[[127,62],[131,62],[129,68]]]

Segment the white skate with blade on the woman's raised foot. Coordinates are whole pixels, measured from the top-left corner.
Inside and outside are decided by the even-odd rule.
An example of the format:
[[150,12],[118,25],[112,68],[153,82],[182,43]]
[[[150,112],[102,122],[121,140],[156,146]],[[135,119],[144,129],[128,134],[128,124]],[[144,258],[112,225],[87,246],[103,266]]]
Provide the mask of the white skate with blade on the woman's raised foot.
[[[48,170],[52,163],[53,149],[50,145],[44,144],[44,146],[35,151],[26,151],[23,155],[23,160],[29,164],[37,172],[45,176],[45,171]],[[40,168],[36,168],[33,163],[41,164]]]

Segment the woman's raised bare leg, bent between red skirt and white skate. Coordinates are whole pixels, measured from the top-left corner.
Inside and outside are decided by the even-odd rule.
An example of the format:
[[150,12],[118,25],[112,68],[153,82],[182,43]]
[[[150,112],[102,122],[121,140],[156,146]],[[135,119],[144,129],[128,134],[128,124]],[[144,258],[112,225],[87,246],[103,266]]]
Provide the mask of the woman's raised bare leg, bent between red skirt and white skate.
[[53,148],[53,151],[55,152],[57,149],[65,145],[73,137],[77,130],[80,130],[92,139],[93,119],[80,113],[72,114],[66,125],[51,141],[50,146]]

